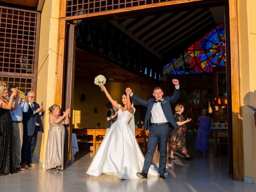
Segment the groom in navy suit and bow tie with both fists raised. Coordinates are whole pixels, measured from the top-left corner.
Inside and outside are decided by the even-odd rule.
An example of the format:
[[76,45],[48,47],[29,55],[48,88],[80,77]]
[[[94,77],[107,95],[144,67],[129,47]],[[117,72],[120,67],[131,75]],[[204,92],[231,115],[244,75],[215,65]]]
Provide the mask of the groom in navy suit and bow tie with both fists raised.
[[[153,96],[148,101],[142,100],[134,93],[130,97],[139,104],[147,107],[146,118],[144,120],[144,130],[149,129],[148,135],[148,151],[144,161],[144,167],[141,173],[137,173],[140,178],[148,178],[148,170],[153,160],[156,145],[159,141],[160,160],[159,160],[159,179],[164,179],[166,168],[167,142],[169,137],[169,126],[178,128],[176,120],[172,114],[171,106],[178,100],[180,96],[180,84],[177,79],[173,79],[175,85],[174,94],[169,97],[163,97],[164,92],[160,87],[153,90]],[[132,91],[126,88],[126,91]]]

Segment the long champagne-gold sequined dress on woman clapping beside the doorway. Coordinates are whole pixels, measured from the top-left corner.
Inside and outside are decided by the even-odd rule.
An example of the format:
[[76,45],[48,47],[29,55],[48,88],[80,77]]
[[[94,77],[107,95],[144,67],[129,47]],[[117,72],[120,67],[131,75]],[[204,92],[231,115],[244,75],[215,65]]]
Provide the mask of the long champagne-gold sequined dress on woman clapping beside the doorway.
[[[58,116],[55,116],[58,119]],[[65,142],[65,120],[59,124],[54,124],[49,120],[50,130],[46,145],[45,168],[63,170],[63,154]]]

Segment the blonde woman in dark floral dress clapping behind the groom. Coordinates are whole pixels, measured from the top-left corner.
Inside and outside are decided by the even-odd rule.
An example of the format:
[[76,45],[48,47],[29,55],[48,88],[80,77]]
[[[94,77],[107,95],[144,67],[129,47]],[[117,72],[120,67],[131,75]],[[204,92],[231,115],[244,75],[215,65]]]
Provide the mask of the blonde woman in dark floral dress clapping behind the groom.
[[185,160],[191,160],[194,158],[193,156],[188,155],[188,151],[186,149],[186,141],[185,141],[185,134],[186,134],[186,123],[190,122],[191,119],[185,120],[182,116],[184,112],[184,106],[182,104],[178,104],[175,107],[175,114],[174,118],[178,124],[178,129],[173,129],[170,134],[169,140],[169,159],[176,160],[173,156],[175,151],[181,151],[185,155]]

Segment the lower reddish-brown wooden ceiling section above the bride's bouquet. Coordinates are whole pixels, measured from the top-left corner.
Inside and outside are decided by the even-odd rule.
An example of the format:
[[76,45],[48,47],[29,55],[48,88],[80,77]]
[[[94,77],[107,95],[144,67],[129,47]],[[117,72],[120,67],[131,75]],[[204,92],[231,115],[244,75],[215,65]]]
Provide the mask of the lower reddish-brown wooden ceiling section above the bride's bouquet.
[[84,80],[94,80],[98,75],[104,75],[109,80],[113,77],[114,82],[126,83],[152,83],[146,77],[135,74],[129,70],[125,70],[120,66],[114,65],[90,52],[76,49],[75,58],[75,78]]

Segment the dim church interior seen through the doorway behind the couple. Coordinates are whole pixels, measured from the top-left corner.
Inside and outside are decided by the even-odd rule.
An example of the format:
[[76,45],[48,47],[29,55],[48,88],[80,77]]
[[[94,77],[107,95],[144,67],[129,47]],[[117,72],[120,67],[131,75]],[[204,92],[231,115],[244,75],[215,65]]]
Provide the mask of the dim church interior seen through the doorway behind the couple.
[[[104,92],[94,84],[100,74],[112,98],[121,102],[126,87],[144,100],[160,86],[171,96],[173,78],[178,79],[181,93],[176,104],[184,105],[184,117],[192,118],[187,139],[194,142],[198,117],[208,110],[212,120],[211,139],[221,132],[218,148],[228,153],[228,88],[226,72],[226,31],[224,6],[166,11],[132,18],[88,24],[80,20],[75,27],[73,133],[82,129],[106,128],[106,114],[112,106]],[[146,109],[134,102],[136,128]],[[173,108],[175,107],[172,106]],[[80,130],[79,130],[80,129]],[[147,133],[137,129],[139,143]],[[79,146],[93,151],[104,135],[77,134]],[[144,147],[144,148],[143,148]],[[219,152],[218,152],[219,153]],[[216,154],[218,155],[218,154]]]

